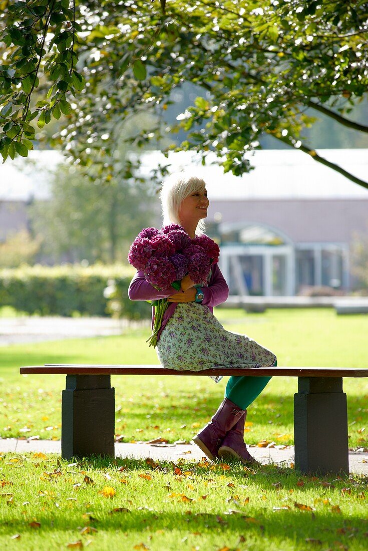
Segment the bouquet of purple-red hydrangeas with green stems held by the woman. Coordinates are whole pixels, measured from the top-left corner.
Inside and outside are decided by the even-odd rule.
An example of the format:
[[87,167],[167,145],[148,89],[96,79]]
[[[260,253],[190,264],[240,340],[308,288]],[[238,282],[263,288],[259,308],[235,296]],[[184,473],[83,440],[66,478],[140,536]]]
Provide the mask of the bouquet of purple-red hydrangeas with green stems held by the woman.
[[[218,262],[220,250],[207,235],[191,239],[182,226],[169,224],[158,230],[145,228],[134,239],[128,262],[144,271],[145,280],[155,289],[174,287],[180,290],[181,279],[187,274],[193,283],[203,282],[212,264]],[[157,336],[169,302],[167,299],[150,301],[155,307],[153,333],[148,339],[155,347]]]

